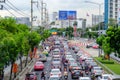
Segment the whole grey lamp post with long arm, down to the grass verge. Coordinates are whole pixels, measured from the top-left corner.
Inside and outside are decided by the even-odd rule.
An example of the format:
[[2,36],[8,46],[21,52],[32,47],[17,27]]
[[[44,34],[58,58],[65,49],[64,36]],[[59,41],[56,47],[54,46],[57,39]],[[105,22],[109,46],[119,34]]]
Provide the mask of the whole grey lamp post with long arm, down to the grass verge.
[[[98,27],[98,33],[99,35],[101,34],[100,33],[100,15],[101,15],[101,5],[103,5],[103,3],[96,3],[96,2],[91,2],[91,1],[85,1],[85,3],[91,3],[91,4],[95,4],[95,5],[98,5],[99,6],[99,17],[98,17],[98,22],[99,22],[99,27]],[[98,56],[100,56],[100,49],[98,51]]]

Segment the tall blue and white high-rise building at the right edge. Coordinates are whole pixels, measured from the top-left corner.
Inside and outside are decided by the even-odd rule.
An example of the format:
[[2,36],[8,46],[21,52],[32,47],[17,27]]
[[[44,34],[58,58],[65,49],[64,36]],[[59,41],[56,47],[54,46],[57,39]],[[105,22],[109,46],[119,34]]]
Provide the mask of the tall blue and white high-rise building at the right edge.
[[118,22],[118,11],[119,11],[119,5],[120,5],[120,0],[104,0],[105,2],[105,17],[104,17],[104,22],[105,22],[105,27],[104,29],[106,30],[108,27],[109,19],[113,18]]

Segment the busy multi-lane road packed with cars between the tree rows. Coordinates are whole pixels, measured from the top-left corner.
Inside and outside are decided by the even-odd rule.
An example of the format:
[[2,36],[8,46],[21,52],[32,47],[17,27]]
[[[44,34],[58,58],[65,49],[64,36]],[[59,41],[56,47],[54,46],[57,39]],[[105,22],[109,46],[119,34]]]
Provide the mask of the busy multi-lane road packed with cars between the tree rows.
[[102,80],[103,69],[80,47],[57,36],[48,40],[52,44],[43,44],[47,57],[37,54],[33,70],[27,73],[25,80],[30,80],[33,74],[34,80]]

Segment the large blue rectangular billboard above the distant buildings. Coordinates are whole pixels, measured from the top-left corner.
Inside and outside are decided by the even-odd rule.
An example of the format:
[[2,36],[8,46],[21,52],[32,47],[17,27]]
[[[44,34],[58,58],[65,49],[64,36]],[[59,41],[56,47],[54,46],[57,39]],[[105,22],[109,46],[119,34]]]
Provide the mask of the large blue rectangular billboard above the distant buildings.
[[76,11],[59,11],[59,20],[75,20]]

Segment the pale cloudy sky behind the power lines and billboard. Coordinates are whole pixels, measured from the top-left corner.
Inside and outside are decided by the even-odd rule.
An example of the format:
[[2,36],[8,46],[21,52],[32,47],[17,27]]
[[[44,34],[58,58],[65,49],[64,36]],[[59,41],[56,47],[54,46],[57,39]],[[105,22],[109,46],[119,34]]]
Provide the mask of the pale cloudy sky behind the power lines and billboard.
[[[39,9],[40,9],[41,0],[33,0],[33,1],[39,2]],[[43,2],[47,4],[47,9],[50,17],[53,12],[58,12],[59,10],[75,10],[77,11],[77,18],[87,18],[87,23],[89,25],[91,24],[91,15],[98,14],[99,7],[96,4],[85,3],[85,1],[96,2],[99,4],[104,3],[104,0],[43,0]],[[6,3],[1,3],[4,5],[5,9],[0,11],[0,15],[1,16],[10,15],[10,13],[6,11],[7,8],[9,12],[13,13],[16,16],[30,16],[30,8],[31,8],[30,2],[31,0],[6,0]],[[10,7],[11,3],[18,10],[11,10]],[[36,7],[36,3],[34,3],[33,7],[34,7],[34,15],[38,16],[38,19],[40,19],[40,11],[38,11]],[[103,11],[104,11],[104,5],[102,5],[101,7],[101,14],[103,14]],[[86,16],[86,14],[89,14],[89,16]]]

